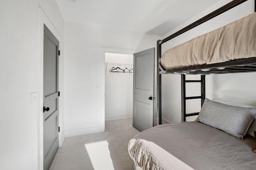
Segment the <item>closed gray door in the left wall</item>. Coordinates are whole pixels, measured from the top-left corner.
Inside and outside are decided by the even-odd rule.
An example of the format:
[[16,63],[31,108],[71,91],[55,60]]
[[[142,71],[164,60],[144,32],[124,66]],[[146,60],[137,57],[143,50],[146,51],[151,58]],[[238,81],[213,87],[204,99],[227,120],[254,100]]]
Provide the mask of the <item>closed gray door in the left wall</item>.
[[58,51],[58,39],[44,25],[44,170],[59,147]]

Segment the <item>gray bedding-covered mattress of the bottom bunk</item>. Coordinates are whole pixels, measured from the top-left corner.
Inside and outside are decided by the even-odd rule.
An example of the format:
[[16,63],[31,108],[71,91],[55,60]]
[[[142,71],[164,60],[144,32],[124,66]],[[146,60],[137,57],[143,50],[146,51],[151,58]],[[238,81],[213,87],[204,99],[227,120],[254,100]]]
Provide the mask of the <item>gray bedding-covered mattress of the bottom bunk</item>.
[[244,140],[200,122],[158,125],[129,141],[137,166],[157,170],[255,170],[256,138]]

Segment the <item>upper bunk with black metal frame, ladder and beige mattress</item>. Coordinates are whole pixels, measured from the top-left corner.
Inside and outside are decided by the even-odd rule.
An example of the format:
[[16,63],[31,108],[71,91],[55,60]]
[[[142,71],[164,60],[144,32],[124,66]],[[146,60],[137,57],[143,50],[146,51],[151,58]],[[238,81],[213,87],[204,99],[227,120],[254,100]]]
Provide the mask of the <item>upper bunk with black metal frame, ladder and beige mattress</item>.
[[[246,1],[247,0],[233,0],[232,2],[222,6],[218,10],[208,14],[198,21],[195,21],[169,37],[157,41],[157,61],[159,62],[159,64],[157,64],[159,124],[162,124],[162,74],[181,74],[182,121],[186,121],[186,117],[198,115],[199,113],[186,114],[186,100],[201,98],[201,106],[204,103],[205,75],[256,71],[256,14],[246,16],[245,18],[234,21],[228,25],[225,25],[224,27],[211,31],[210,33],[196,37],[195,39],[192,39],[182,45],[169,49],[163,54],[163,56],[161,51],[163,43],[166,43],[178,35]],[[250,34],[247,31],[251,31]],[[244,41],[248,43],[245,45],[242,44],[241,42]],[[248,53],[248,51],[250,53]],[[172,56],[172,52],[176,54],[178,53],[178,55]],[[180,56],[180,52],[185,55]],[[189,55],[190,57],[188,57]],[[186,80],[186,74],[201,74],[201,80]],[[186,82],[201,82],[201,95],[186,97]]]

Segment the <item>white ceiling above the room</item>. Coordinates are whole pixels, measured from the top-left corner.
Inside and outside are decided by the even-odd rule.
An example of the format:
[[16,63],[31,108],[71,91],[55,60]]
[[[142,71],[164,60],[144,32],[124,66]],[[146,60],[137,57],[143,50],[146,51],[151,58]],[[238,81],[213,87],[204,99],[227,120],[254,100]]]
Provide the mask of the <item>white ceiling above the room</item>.
[[155,35],[164,35],[218,1],[56,0],[65,21]]

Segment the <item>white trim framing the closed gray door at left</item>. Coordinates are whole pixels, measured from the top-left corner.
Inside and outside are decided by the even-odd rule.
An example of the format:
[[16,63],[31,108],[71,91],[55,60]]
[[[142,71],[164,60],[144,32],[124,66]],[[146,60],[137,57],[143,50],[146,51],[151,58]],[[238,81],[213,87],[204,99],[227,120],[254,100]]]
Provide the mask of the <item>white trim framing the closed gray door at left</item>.
[[[38,115],[38,170],[43,170],[44,165],[44,150],[43,150],[43,73],[44,73],[44,24],[50,29],[53,35],[58,39],[60,50],[62,47],[62,37],[57,29],[54,27],[52,22],[43,12],[43,10],[38,8],[38,103],[37,103],[37,115]],[[59,56],[59,91],[63,92],[63,51],[61,51]],[[62,143],[65,139],[63,124],[62,124],[62,111],[63,111],[63,93],[60,96],[59,100],[59,147],[62,146]]]

